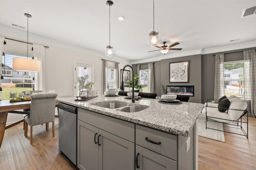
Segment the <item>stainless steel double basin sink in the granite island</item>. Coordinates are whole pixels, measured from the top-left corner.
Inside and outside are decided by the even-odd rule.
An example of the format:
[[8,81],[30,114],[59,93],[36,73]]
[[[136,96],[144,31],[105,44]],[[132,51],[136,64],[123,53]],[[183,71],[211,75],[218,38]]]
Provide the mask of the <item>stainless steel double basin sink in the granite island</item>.
[[118,111],[130,112],[130,113],[142,111],[144,109],[149,108],[149,106],[132,106],[132,105],[130,105],[130,103],[127,103],[127,102],[122,103],[122,102],[113,102],[113,101],[92,104],[92,105],[105,107],[108,109],[114,109],[114,110],[118,110]]

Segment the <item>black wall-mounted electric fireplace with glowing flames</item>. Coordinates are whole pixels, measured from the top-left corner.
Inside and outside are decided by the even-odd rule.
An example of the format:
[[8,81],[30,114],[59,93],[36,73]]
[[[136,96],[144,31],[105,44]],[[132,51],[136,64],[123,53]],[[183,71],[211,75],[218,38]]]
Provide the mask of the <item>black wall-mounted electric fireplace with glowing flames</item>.
[[194,86],[167,86],[166,94],[194,96]]

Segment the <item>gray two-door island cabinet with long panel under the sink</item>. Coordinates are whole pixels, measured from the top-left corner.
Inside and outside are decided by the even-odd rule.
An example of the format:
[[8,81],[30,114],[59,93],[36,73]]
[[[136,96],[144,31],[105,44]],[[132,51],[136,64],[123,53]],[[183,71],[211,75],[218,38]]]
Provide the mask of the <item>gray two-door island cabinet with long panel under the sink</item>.
[[[77,166],[80,170],[134,170],[135,144],[129,133],[133,125],[134,136],[134,124],[80,109],[78,118]],[[122,137],[116,133],[122,133]],[[131,141],[124,139],[126,135]]]

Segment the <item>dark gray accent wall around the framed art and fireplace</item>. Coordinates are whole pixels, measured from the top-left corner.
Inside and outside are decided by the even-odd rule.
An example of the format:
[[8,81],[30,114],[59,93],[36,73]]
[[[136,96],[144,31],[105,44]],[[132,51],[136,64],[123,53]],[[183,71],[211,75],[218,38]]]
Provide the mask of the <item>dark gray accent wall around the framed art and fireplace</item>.
[[[189,61],[188,83],[170,83],[170,64],[179,61]],[[148,69],[147,63],[139,63],[140,69]],[[146,65],[145,65],[146,64]],[[133,64],[134,71],[137,72],[137,64]],[[166,85],[193,85],[195,96],[189,102],[201,103],[201,55],[191,55],[177,57],[154,62],[154,92],[157,96],[163,94],[161,83]]]

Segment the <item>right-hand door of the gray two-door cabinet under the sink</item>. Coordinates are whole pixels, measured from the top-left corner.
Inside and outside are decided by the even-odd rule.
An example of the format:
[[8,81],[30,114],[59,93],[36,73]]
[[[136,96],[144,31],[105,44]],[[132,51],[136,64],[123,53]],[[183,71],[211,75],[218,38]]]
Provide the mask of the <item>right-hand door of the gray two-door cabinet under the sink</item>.
[[99,129],[99,170],[134,170],[134,143]]

